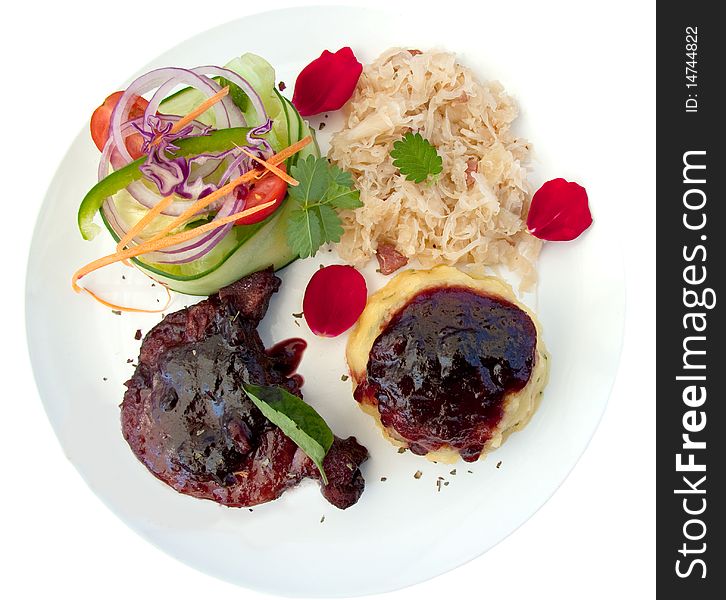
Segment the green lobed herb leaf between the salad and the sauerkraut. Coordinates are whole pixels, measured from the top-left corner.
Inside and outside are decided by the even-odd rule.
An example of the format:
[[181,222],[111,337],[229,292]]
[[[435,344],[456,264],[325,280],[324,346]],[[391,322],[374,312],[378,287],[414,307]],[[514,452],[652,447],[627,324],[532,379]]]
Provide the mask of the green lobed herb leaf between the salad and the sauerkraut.
[[300,185],[289,188],[297,207],[290,213],[287,243],[300,258],[314,256],[320,246],[338,242],[343,233],[336,211],[363,206],[353,188],[353,177],[328,163],[326,158],[308,156],[290,169]]

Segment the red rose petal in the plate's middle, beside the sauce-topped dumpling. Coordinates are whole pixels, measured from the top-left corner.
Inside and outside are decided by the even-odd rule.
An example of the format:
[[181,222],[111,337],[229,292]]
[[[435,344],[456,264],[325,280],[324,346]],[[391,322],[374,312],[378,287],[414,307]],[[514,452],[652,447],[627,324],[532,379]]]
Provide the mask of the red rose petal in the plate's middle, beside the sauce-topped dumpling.
[[310,278],[305,288],[305,320],[315,335],[335,337],[358,320],[367,297],[366,281],[353,267],[324,267]]

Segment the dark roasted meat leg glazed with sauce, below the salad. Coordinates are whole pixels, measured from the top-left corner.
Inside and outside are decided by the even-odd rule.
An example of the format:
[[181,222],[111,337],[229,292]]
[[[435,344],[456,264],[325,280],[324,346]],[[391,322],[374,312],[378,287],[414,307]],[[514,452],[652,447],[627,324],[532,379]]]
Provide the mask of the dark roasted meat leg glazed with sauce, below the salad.
[[[310,458],[241,387],[278,385],[302,396],[302,379],[280,364],[289,357],[266,353],[257,333],[279,287],[271,270],[249,275],[168,315],[141,345],[121,405],[123,434],[136,457],[183,494],[254,506],[307,477],[320,480]],[[322,486],[331,504],[347,508],[358,501],[367,457],[355,438],[335,438]]]

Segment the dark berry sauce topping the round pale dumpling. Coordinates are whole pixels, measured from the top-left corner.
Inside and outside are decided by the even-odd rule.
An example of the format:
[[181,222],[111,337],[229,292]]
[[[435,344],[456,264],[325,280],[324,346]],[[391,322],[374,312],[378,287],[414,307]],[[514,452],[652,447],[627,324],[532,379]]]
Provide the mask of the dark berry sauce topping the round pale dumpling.
[[529,381],[536,344],[532,319],[502,298],[425,290],[373,343],[355,397],[377,402],[383,425],[415,454],[449,444],[472,462],[503,416],[505,394]]

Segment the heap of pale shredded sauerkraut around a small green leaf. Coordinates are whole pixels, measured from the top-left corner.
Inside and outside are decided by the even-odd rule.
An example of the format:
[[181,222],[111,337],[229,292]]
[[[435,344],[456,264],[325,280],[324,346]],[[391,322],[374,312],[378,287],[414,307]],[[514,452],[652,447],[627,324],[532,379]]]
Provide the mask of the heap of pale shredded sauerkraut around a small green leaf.
[[[367,65],[328,154],[363,202],[341,214],[341,257],[362,266],[389,243],[424,267],[504,265],[530,288],[541,242],[526,228],[530,144],[511,132],[516,116],[502,86],[480,83],[454,54],[397,48]],[[443,159],[426,183],[393,166],[393,142],[408,131]]]

